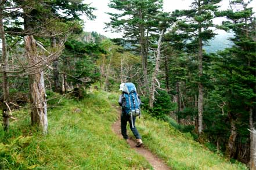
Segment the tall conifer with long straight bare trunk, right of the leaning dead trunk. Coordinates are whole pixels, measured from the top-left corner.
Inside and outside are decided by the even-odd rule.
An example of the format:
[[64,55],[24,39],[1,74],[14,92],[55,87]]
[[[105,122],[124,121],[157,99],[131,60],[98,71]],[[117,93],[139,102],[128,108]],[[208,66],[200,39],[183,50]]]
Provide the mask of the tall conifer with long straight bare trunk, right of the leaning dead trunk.
[[185,17],[178,22],[182,34],[188,34],[190,37],[190,53],[194,51],[198,56],[198,127],[197,131],[201,134],[203,130],[203,102],[204,102],[204,73],[203,73],[203,45],[204,42],[214,37],[211,27],[214,27],[212,19],[214,12],[217,11],[221,0],[194,0],[191,9],[176,10],[174,16]]

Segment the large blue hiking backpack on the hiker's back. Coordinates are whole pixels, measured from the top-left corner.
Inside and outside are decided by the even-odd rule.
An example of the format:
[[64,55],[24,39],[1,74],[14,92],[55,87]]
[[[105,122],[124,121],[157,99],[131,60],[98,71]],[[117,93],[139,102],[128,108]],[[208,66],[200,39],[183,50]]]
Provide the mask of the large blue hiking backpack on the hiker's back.
[[[125,113],[131,116],[131,120],[132,117],[140,116],[140,100],[134,83],[125,83],[122,92],[125,98],[125,108],[123,108]],[[133,122],[132,127],[134,127]]]

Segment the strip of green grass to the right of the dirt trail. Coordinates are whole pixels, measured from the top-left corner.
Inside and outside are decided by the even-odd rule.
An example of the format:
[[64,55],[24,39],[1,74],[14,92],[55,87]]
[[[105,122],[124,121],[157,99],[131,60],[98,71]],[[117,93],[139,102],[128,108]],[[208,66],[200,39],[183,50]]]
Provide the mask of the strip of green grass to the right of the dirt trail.
[[232,164],[217,153],[205,149],[191,135],[181,133],[169,123],[147,116],[137,121],[145,145],[172,169],[248,169]]

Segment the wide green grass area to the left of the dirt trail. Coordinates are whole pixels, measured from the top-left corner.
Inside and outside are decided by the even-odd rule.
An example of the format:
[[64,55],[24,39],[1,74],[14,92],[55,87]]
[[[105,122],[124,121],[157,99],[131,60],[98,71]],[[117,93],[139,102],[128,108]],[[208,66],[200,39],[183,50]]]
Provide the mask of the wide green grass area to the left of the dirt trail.
[[[80,102],[63,99],[62,108],[48,112],[46,136],[30,127],[26,111],[16,112],[19,121],[10,124],[9,134],[0,129],[0,149],[5,149],[0,151],[0,169],[151,169],[111,130],[117,120],[113,100],[113,95],[99,92]],[[23,140],[30,137],[22,142],[21,135]]]

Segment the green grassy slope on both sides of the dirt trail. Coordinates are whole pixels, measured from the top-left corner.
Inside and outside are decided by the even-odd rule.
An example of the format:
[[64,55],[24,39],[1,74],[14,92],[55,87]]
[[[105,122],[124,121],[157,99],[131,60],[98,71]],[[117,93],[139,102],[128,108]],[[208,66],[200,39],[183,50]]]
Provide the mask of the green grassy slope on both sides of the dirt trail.
[[[33,133],[30,143],[16,152],[3,154],[0,151],[1,156],[9,160],[9,163],[0,160],[0,169],[1,162],[8,169],[26,169],[29,166],[37,169],[150,168],[144,158],[130,150],[111,131],[111,124],[117,120],[117,111],[111,105],[117,104],[117,98],[118,94],[95,92],[81,102],[63,99],[62,108],[49,111],[49,135]],[[77,109],[81,112],[75,112]],[[9,136],[32,134],[32,130],[24,131],[30,129],[29,116],[22,119],[26,114],[19,112],[15,115],[20,120],[11,124]],[[172,169],[246,169],[243,164],[230,164],[170,124],[147,114],[136,124],[145,146],[163,158]],[[7,141],[5,138],[0,129],[0,140]],[[17,156],[18,153],[20,155]]]

